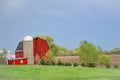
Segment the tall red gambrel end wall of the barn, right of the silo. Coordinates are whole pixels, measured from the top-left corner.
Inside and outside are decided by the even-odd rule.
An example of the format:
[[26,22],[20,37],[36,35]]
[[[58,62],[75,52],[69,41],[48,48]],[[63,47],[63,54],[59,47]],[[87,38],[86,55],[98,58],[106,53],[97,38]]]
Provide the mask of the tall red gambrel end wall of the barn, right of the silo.
[[46,40],[39,37],[34,38],[33,46],[34,46],[34,64],[37,64],[39,60],[48,52],[50,47]]

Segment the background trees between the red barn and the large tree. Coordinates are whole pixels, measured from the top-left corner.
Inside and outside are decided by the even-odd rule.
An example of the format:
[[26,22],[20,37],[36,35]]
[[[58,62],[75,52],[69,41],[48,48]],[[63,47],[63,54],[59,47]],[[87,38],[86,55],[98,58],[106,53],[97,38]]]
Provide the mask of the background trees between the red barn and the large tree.
[[51,54],[52,56],[75,56],[79,55],[79,50],[78,48],[75,48],[73,50],[68,50],[65,47],[59,46],[58,44],[55,43],[54,38],[46,35],[42,36],[45,38],[51,48]]

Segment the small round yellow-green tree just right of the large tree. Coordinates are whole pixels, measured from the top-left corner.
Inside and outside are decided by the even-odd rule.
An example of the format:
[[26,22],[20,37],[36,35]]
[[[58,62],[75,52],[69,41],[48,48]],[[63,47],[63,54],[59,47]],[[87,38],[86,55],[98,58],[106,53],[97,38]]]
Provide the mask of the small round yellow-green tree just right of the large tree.
[[99,57],[99,63],[105,65],[106,67],[110,67],[112,64],[111,57],[106,54],[102,54]]

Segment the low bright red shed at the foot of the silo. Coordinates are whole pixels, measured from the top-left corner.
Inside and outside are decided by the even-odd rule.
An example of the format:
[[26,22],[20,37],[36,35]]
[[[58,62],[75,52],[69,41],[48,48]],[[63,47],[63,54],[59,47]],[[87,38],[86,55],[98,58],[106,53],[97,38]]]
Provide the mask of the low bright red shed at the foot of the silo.
[[23,58],[23,59],[8,60],[8,64],[9,65],[27,65],[28,59]]

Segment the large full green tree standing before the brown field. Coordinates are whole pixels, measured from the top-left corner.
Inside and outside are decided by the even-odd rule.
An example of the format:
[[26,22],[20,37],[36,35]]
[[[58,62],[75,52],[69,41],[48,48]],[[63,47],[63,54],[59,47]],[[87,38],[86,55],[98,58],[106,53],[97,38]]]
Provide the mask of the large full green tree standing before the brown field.
[[99,49],[92,43],[82,41],[80,48],[80,62],[84,66],[96,65]]

